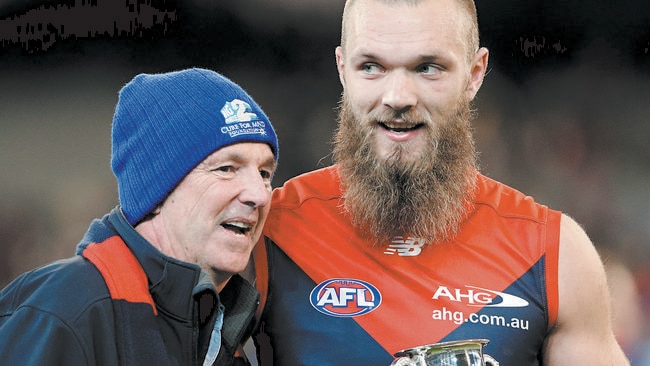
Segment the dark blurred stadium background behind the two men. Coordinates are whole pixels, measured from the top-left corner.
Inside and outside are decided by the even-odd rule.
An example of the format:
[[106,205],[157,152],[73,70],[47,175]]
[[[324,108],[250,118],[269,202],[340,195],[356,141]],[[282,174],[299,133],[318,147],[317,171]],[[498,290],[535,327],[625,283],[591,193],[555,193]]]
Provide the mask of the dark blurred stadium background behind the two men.
[[[137,73],[207,67],[247,89],[280,136],[276,186],[329,165],[342,7],[343,0],[0,1],[0,287],[71,255],[90,220],[117,204],[111,118],[118,90]],[[650,2],[477,7],[491,51],[476,100],[483,172],[582,223],[608,269],[620,264],[626,275],[616,278],[634,289],[632,300],[616,293],[615,311],[631,314],[617,310],[631,303],[647,310]],[[649,324],[639,315],[620,327],[620,339],[642,344]]]

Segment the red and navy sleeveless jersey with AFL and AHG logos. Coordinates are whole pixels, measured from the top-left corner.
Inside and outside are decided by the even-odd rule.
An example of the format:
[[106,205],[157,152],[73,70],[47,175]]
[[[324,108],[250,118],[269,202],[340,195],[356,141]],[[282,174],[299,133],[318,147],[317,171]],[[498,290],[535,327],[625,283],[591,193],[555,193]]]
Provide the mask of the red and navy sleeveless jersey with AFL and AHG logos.
[[489,340],[501,365],[541,364],[561,213],[477,174],[459,233],[436,243],[364,240],[336,166],[276,189],[255,253],[274,365],[389,365],[400,350],[463,339]]

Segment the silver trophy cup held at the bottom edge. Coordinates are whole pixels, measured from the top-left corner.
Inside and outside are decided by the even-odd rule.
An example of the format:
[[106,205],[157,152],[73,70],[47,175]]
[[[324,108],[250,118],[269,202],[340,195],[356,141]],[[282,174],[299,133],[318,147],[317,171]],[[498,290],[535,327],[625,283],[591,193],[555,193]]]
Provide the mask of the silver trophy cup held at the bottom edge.
[[427,344],[397,352],[391,366],[499,366],[483,354],[487,339]]

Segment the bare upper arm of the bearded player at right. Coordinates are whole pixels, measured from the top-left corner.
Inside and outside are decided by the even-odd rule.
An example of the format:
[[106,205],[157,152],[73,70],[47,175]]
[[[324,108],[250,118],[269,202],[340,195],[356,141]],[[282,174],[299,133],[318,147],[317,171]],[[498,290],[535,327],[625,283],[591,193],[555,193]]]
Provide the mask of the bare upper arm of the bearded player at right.
[[629,365],[611,324],[605,270],[582,228],[560,224],[559,310],[545,345],[544,365]]

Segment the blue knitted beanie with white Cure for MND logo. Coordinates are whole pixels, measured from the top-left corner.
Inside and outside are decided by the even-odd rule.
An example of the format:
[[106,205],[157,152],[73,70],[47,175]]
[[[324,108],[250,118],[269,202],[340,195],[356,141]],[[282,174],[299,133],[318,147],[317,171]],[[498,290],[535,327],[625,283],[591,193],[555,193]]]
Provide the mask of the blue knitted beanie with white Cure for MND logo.
[[214,151],[278,139],[262,109],[237,84],[205,69],[140,74],[119,93],[111,167],[131,225],[162,202]]

